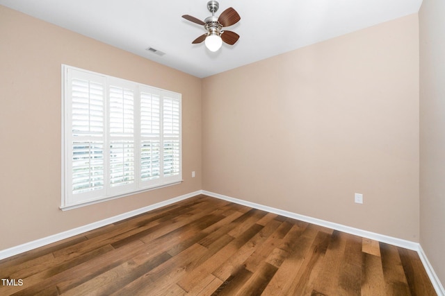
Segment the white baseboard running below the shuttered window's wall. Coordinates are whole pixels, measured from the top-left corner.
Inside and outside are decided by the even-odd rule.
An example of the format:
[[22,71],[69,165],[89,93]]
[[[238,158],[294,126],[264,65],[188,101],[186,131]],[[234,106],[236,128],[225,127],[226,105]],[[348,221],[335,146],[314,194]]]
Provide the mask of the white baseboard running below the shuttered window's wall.
[[192,192],[192,193],[188,193],[188,194],[185,194],[185,195],[178,196],[176,198],[171,198],[170,200],[165,200],[163,202],[158,202],[156,204],[151,204],[151,205],[149,205],[147,207],[143,207],[143,208],[140,208],[140,209],[129,211],[127,213],[120,214],[118,216],[113,216],[111,218],[106,218],[104,220],[100,220],[100,221],[97,221],[95,223],[90,223],[88,225],[83,225],[81,227],[70,229],[70,230],[67,230],[66,232],[60,232],[59,234],[54,234],[54,235],[51,235],[51,236],[47,236],[45,238],[40,238],[38,240],[31,241],[29,243],[24,243],[22,245],[17,245],[15,247],[10,247],[9,249],[6,249],[6,250],[0,250],[0,260],[8,258],[10,256],[15,256],[17,254],[20,254],[20,253],[23,253],[23,252],[26,252],[26,251],[29,251],[29,250],[33,250],[33,249],[38,248],[38,247],[42,247],[44,245],[49,245],[50,243],[56,243],[57,241],[61,241],[61,240],[65,239],[65,238],[70,238],[70,237],[76,236],[78,234],[83,234],[84,232],[89,232],[90,230],[97,229],[99,227],[103,227],[103,226],[109,225],[111,223],[116,223],[116,222],[118,222],[120,220],[125,220],[127,218],[131,218],[133,216],[137,216],[139,214],[143,214],[143,213],[145,213],[147,211],[152,211],[154,209],[158,209],[160,207],[164,207],[164,206],[166,206],[168,204],[173,204],[173,203],[179,202],[181,200],[186,200],[187,198],[191,198],[191,197],[199,195],[201,193],[202,193],[202,191],[195,191],[195,192]]

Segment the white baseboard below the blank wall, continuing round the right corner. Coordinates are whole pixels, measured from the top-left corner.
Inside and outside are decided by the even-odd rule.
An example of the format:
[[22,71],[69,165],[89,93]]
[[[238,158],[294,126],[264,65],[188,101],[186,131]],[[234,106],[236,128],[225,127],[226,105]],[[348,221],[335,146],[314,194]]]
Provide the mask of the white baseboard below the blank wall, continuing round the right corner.
[[385,236],[383,234],[376,234],[374,232],[368,232],[366,230],[362,230],[362,229],[357,229],[354,227],[349,227],[349,226],[345,226],[345,225],[341,225],[341,224],[337,224],[337,223],[332,223],[329,221],[325,221],[325,220],[321,220],[321,219],[317,219],[317,218],[312,218],[312,217],[308,217],[308,216],[303,216],[300,214],[295,214],[292,213],[290,211],[284,211],[281,209],[275,209],[273,207],[267,207],[264,206],[262,204],[256,204],[254,202],[248,202],[245,200],[239,200],[237,198],[231,198],[229,196],[226,195],[221,195],[218,193],[213,193],[213,192],[209,192],[209,191],[202,191],[202,194],[204,195],[209,195],[213,198],[219,198],[221,200],[227,200],[229,202],[235,202],[236,204],[243,204],[247,207],[252,207],[254,209],[261,209],[262,211],[268,211],[270,213],[273,214],[278,214],[281,216],[285,216],[285,217],[289,217],[289,218],[293,218],[296,220],[301,220],[301,221],[305,221],[307,223],[312,223],[315,225],[320,225],[323,227],[327,227],[327,228],[331,228],[331,229],[335,229],[335,230],[339,230],[341,232],[346,232],[348,234],[354,234],[356,236],[362,236],[364,238],[370,238],[373,239],[374,241],[381,241],[382,243],[388,243],[390,245],[396,245],[398,247],[404,247],[405,249],[408,250],[413,250],[416,251],[419,254],[419,257],[423,263],[423,266],[425,267],[425,270],[428,274],[428,277],[430,278],[431,284],[432,286],[434,286],[436,293],[438,296],[445,296],[445,290],[444,287],[442,286],[442,284],[439,281],[439,278],[437,277],[435,271],[432,269],[432,266],[430,264],[430,262],[428,261],[426,254],[423,252],[422,247],[419,243],[414,243],[412,241],[405,241],[401,238],[394,238],[391,236]]

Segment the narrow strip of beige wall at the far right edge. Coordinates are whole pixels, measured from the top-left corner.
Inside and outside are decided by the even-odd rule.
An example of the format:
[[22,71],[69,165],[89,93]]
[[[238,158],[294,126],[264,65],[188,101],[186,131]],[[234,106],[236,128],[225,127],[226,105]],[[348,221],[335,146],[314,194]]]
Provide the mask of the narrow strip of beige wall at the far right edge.
[[423,0],[420,24],[421,246],[445,284],[445,2]]

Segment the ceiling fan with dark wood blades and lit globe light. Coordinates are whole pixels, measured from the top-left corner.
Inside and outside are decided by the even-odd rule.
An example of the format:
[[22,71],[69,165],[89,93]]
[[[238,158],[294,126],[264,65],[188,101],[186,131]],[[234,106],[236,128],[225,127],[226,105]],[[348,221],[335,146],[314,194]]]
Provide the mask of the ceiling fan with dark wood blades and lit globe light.
[[205,40],[207,49],[210,51],[218,51],[223,42],[233,45],[238,41],[239,35],[232,31],[221,31],[224,27],[236,24],[241,17],[234,8],[230,7],[221,13],[220,17],[215,17],[215,12],[218,10],[220,4],[218,1],[207,2],[207,9],[211,12],[211,17],[207,17],[204,21],[192,17],[191,15],[183,15],[184,19],[192,21],[195,24],[202,25],[207,33],[197,37],[192,44],[201,43]]

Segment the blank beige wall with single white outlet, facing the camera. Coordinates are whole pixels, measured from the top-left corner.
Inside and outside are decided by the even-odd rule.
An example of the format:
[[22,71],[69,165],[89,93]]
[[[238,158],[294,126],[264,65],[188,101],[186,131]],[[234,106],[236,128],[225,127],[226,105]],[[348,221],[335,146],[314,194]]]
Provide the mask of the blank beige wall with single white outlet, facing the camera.
[[203,189],[419,241],[418,40],[410,15],[204,78]]

